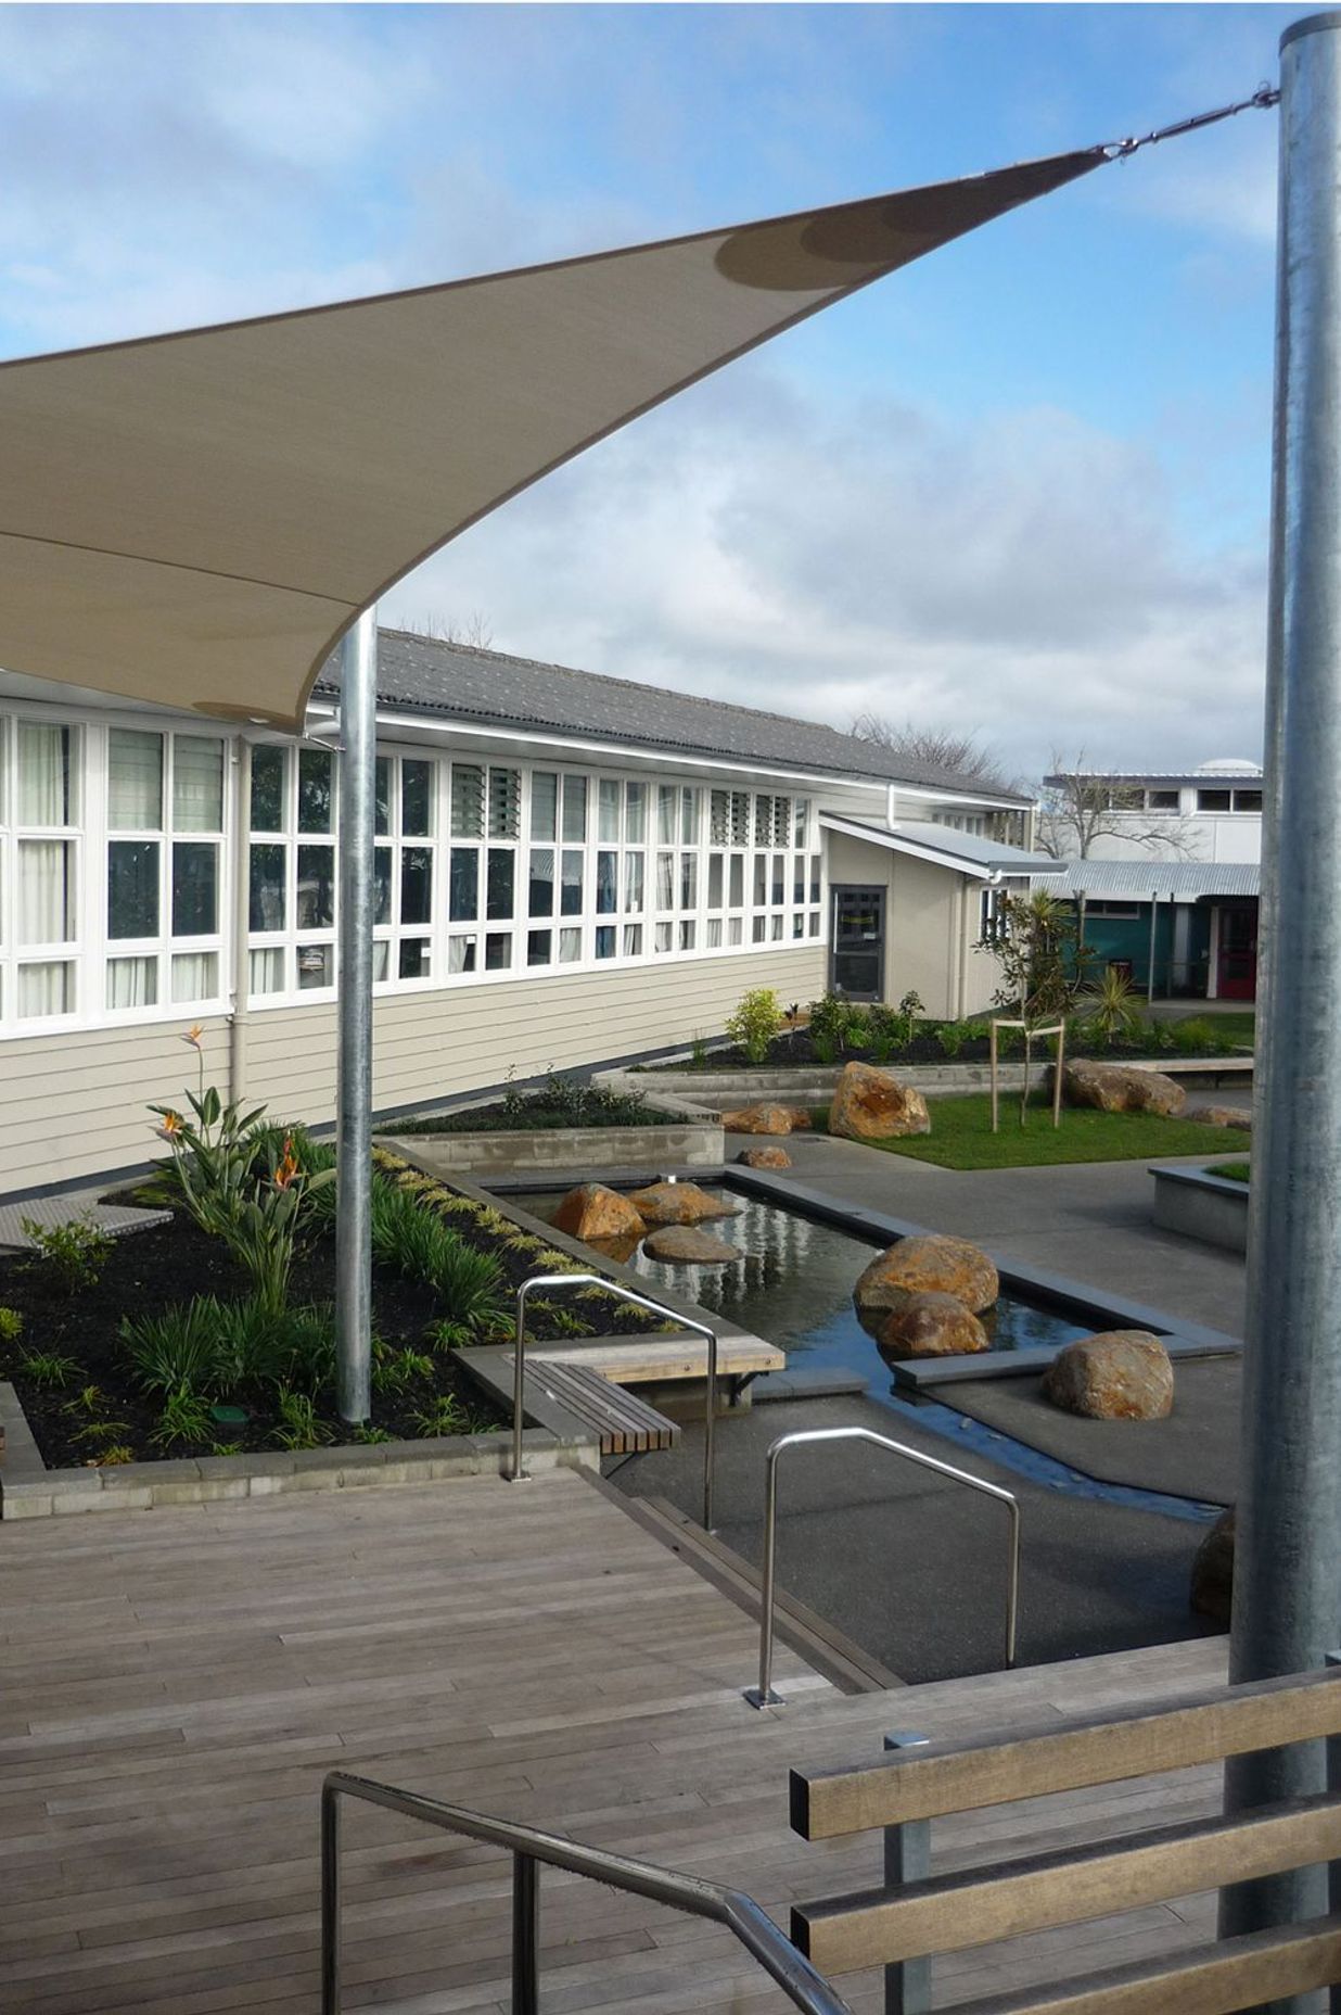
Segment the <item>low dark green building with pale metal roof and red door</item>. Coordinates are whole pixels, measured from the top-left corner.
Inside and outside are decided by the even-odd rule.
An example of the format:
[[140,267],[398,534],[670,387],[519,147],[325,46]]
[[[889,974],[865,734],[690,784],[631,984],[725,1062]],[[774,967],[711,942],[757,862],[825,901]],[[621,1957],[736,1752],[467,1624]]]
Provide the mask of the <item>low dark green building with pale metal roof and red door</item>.
[[1256,999],[1256,860],[1067,860],[1037,883],[1081,907],[1099,965],[1160,999]]

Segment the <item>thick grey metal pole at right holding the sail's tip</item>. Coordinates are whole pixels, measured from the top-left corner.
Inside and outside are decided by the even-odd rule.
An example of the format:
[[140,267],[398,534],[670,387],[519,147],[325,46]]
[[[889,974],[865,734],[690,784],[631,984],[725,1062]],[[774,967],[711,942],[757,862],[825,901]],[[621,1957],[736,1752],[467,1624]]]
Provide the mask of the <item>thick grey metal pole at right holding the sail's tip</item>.
[[[1281,38],[1264,961],[1234,1681],[1321,1666],[1341,1642],[1339,30],[1341,14],[1313,14]],[[1244,1809],[1321,1791],[1325,1769],[1321,1743],[1236,1757],[1226,1797]],[[1252,1930],[1325,1910],[1325,1870],[1301,1870],[1228,1890],[1222,1924]]]

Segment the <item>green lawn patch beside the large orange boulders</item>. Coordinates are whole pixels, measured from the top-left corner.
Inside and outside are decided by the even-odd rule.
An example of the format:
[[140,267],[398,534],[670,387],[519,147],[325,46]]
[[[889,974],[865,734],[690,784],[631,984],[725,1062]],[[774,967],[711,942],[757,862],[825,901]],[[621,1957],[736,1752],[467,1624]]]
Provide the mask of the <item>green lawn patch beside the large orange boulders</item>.
[[[1037,1169],[1063,1161],[1162,1161],[1166,1155],[1226,1153],[1222,1126],[1162,1120],[1152,1112],[1091,1112],[1061,1108],[1053,1130],[1051,1104],[1035,1094],[1029,1122],[1019,1124],[1019,1096],[1001,1098],[1001,1132],[993,1132],[987,1092],[968,1098],[928,1098],[932,1130],[906,1140],[872,1140],[882,1155],[934,1161],[938,1169]],[[815,1130],[824,1132],[822,1118]]]

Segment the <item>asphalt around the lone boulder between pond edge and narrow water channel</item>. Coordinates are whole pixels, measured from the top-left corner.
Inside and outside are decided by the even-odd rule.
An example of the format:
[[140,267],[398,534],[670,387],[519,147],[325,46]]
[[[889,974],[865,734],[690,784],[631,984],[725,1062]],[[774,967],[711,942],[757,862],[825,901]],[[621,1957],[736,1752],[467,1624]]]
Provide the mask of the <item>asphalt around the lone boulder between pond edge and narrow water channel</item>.
[[1168,1421],[1081,1421],[1043,1398],[1041,1378],[983,1378],[940,1398],[1103,1483],[1232,1505],[1238,1493],[1238,1358],[1174,1368]]

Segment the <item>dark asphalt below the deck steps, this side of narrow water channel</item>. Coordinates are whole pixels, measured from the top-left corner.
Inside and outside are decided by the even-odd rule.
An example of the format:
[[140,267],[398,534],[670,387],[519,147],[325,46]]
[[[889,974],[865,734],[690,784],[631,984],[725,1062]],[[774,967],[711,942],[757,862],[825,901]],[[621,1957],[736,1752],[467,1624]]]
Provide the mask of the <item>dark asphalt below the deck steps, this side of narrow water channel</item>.
[[[717,1531],[763,1556],[763,1457],[797,1427],[872,1427],[1013,1491],[1021,1505],[1019,1664],[1087,1658],[1210,1634],[1188,1610],[1206,1525],[1039,1487],[892,1415],[878,1400],[757,1406],[717,1435]],[[701,1429],[612,1481],[701,1515]],[[1007,1515],[1001,1505],[862,1443],[781,1459],[777,1580],[910,1683],[1003,1664]],[[741,1685],[753,1674],[741,1674]]]

